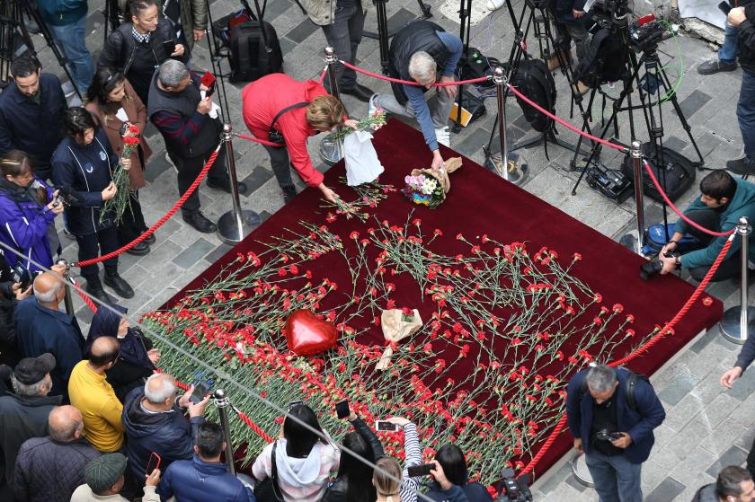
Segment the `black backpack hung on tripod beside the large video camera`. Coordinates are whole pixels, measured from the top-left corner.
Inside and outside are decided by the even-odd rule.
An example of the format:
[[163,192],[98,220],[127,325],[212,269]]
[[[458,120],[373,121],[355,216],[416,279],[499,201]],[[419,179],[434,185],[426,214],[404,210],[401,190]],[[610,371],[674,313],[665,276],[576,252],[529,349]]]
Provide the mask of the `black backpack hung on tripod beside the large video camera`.
[[590,48],[574,70],[574,81],[588,87],[621,80],[626,68],[626,44],[621,33],[601,28],[593,35]]

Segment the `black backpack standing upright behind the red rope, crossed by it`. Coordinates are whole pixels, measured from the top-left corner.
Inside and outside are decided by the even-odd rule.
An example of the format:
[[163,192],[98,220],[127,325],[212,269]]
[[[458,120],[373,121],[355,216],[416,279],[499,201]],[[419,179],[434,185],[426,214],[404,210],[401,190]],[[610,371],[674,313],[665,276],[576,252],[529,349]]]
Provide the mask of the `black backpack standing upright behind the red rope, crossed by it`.
[[[511,79],[511,84],[543,109],[555,113],[555,82],[548,67],[540,59],[522,59]],[[533,129],[546,132],[553,128],[553,119],[535,110],[519,96],[517,102],[524,113],[524,118]]]

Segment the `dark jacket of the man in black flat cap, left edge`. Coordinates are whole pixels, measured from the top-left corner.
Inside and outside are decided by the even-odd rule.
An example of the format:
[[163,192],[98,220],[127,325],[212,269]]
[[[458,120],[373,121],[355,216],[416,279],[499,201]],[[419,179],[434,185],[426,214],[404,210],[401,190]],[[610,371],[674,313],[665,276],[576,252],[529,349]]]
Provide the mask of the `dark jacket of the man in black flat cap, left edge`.
[[15,394],[0,398],[0,450],[4,454],[5,482],[13,484],[16,455],[23,442],[47,435],[49,412],[62,400],[60,396],[21,397]]

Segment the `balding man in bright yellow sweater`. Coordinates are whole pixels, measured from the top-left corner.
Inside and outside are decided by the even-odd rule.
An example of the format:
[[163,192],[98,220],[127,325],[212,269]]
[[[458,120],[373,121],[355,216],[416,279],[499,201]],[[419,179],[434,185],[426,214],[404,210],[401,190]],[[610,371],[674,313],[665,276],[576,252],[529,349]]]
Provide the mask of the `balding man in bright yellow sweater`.
[[105,372],[118,361],[120,342],[112,337],[95,339],[89,359],[79,362],[68,381],[71,404],[84,416],[84,435],[103,454],[120,451],[123,423],[120,404]]

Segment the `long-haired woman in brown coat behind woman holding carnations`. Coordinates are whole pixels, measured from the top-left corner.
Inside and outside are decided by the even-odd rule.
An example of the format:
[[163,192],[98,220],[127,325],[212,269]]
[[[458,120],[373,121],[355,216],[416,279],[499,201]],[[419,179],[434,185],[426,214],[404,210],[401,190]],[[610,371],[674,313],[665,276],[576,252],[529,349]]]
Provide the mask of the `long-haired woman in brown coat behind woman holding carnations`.
[[[131,208],[123,213],[123,220],[118,225],[118,242],[125,246],[147,232],[141,205],[139,204],[138,189],[147,185],[144,172],[152,149],[144,137],[147,128],[147,107],[141,101],[133,86],[120,71],[103,67],[94,75],[92,85],[86,94],[86,110],[92,112],[98,125],[105,131],[111,147],[116,154],[123,152],[125,138],[138,137],[139,144],[131,152],[129,159],[134,169],[129,169],[129,189],[133,190]],[[129,131],[129,125],[138,128],[138,135]],[[155,242],[155,234],[139,242],[128,252],[137,256],[149,252],[150,244]]]

